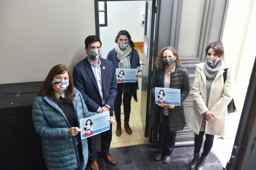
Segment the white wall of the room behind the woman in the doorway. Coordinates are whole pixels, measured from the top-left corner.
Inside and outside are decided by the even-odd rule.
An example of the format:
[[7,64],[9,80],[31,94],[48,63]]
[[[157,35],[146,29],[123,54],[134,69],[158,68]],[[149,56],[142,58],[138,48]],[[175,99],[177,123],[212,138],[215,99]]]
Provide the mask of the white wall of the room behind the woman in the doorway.
[[120,30],[127,30],[133,42],[143,42],[144,24],[140,24],[140,11],[144,10],[145,1],[107,1],[108,26],[99,27],[102,58],[107,58],[109,51],[114,49]]

